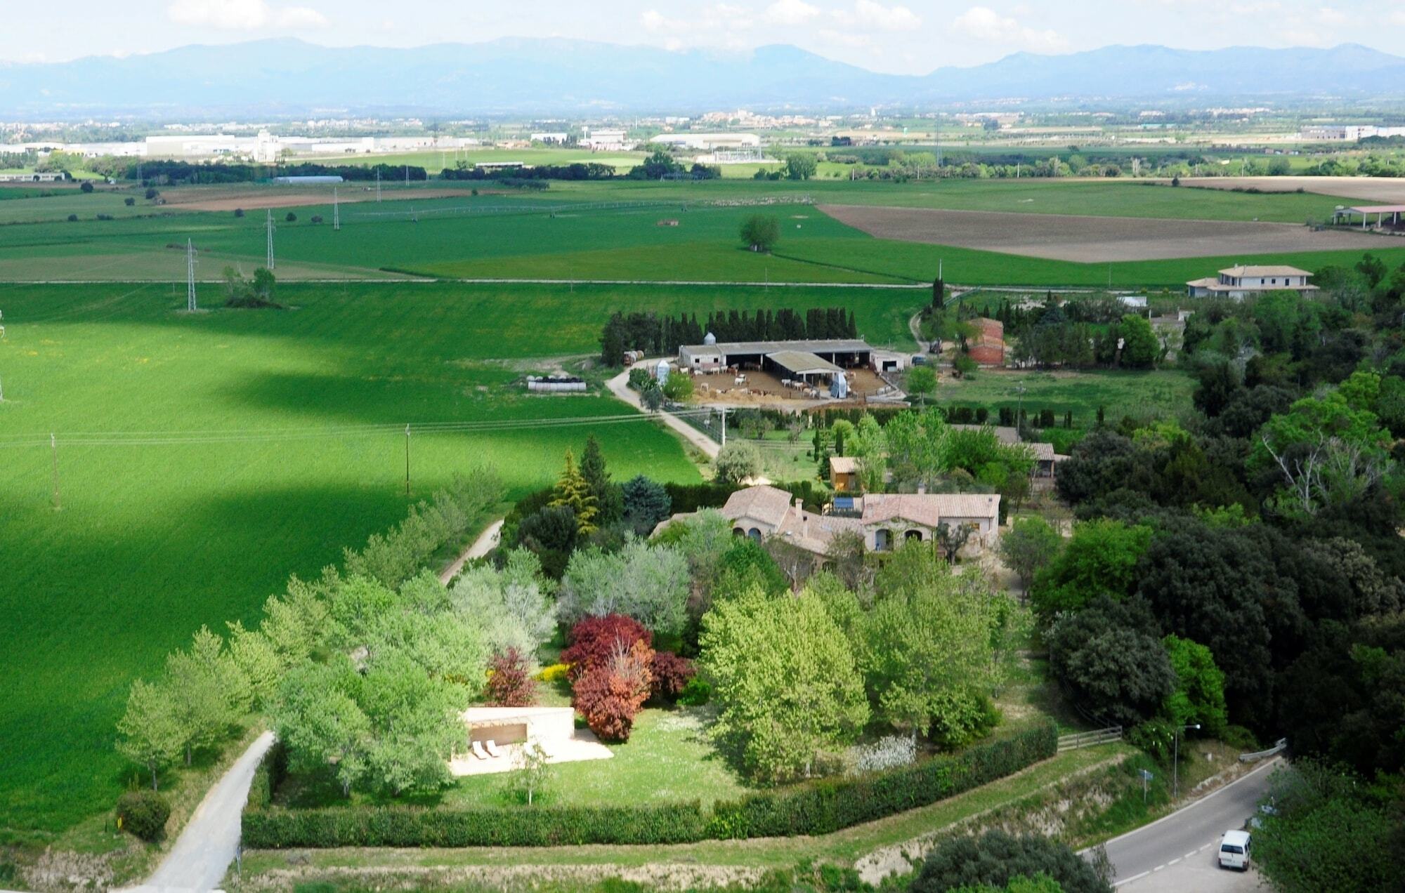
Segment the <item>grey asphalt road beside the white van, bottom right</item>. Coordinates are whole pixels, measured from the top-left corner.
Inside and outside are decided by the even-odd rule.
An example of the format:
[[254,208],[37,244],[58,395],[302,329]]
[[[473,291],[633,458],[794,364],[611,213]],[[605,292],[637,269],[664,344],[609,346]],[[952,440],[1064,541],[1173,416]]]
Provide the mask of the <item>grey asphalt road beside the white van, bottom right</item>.
[[1242,828],[1269,788],[1277,760],[1184,809],[1107,841],[1118,890],[1253,890],[1253,873],[1221,871],[1220,838]]

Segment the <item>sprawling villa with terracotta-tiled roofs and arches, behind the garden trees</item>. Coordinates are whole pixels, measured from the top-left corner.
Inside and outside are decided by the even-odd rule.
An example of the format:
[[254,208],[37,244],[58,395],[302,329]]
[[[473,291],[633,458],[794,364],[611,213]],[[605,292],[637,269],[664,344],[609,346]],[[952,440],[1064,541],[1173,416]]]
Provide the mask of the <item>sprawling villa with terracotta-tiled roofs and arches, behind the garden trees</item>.
[[[932,542],[937,528],[968,527],[968,546],[992,548],[1000,529],[1000,497],[995,493],[870,493],[853,497],[853,511],[815,514],[798,498],[769,486],[738,490],[721,512],[732,521],[732,534],[760,541],[783,536],[816,555],[829,552],[830,541],[860,534],[870,552],[888,552],[905,539]],[[690,515],[673,515],[659,528]]]

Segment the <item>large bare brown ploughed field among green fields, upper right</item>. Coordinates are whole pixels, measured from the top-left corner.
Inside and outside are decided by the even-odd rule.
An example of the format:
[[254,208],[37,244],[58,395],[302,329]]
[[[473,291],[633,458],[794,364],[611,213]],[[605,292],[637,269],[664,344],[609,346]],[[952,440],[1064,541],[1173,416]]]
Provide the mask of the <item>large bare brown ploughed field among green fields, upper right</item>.
[[1085,264],[1405,246],[1383,236],[1312,232],[1297,223],[857,205],[821,205],[819,209],[878,239],[950,244]]

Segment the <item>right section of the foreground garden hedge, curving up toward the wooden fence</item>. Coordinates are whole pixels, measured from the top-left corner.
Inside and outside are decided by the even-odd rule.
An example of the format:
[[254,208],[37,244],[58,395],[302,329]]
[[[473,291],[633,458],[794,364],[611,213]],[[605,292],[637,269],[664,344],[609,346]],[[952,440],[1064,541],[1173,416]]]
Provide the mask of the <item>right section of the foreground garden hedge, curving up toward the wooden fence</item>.
[[708,837],[829,834],[864,821],[927,806],[979,788],[1058,751],[1058,732],[1044,726],[972,747],[955,757],[860,778],[826,779],[798,789],[767,791],[712,806]]

